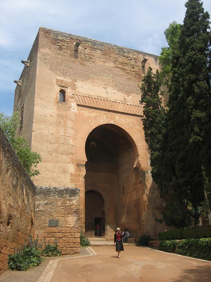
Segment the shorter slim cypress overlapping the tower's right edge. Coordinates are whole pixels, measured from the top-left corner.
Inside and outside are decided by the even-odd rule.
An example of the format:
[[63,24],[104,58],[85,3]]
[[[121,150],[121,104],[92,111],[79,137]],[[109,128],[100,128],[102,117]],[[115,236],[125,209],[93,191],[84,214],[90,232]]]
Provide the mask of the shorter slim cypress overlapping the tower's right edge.
[[165,186],[166,180],[166,109],[162,106],[160,98],[160,87],[163,83],[162,75],[157,70],[153,73],[152,68],[149,67],[147,74],[142,80],[142,96],[139,101],[143,104],[143,130],[145,141],[148,143],[151,150],[150,165],[152,167],[152,177],[160,189],[161,195],[165,195],[168,191]]

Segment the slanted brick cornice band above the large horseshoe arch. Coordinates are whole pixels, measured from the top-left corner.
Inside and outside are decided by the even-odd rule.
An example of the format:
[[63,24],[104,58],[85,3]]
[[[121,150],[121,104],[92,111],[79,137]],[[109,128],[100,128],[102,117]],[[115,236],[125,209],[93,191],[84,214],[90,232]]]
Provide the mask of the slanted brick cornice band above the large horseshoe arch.
[[125,102],[108,100],[103,97],[73,94],[78,106],[103,109],[109,112],[121,112],[132,116],[143,117],[143,107]]

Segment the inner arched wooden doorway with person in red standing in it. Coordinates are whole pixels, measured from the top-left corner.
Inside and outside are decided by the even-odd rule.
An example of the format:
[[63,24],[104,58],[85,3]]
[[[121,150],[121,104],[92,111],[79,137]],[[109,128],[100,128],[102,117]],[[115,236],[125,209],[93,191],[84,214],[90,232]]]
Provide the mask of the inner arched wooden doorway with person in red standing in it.
[[94,190],[85,193],[85,232],[86,237],[95,237],[95,226],[100,225],[99,236],[105,235],[105,219],[103,213],[103,197]]

